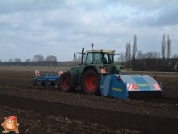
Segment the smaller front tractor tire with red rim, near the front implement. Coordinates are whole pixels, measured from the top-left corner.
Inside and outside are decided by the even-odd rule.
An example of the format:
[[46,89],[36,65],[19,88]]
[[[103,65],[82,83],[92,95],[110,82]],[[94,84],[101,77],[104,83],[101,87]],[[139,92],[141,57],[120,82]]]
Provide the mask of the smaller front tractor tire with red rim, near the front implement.
[[63,73],[60,77],[60,87],[64,92],[72,91],[69,73]]

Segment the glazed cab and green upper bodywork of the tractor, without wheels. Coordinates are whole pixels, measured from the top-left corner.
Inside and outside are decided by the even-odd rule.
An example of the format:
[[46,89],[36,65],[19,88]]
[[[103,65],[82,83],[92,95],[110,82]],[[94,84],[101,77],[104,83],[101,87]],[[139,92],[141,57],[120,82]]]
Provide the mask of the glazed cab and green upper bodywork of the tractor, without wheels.
[[[71,70],[74,70],[77,74],[83,74],[83,72],[90,67],[94,67],[98,73],[101,73],[101,68],[104,69],[106,74],[120,73],[119,65],[114,63],[114,55],[117,55],[115,54],[115,50],[87,50],[86,53],[84,53],[83,48],[82,53],[78,54],[82,54],[81,64],[71,68]],[[74,54],[74,58],[76,58],[76,54]]]

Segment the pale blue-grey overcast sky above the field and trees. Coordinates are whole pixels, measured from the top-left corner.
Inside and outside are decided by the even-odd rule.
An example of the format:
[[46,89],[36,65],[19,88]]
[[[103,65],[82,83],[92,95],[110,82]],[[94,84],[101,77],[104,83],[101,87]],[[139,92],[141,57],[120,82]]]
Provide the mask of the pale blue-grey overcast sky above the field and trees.
[[133,45],[161,52],[163,34],[178,54],[178,0],[0,0],[0,60],[54,55],[73,60],[74,52]]

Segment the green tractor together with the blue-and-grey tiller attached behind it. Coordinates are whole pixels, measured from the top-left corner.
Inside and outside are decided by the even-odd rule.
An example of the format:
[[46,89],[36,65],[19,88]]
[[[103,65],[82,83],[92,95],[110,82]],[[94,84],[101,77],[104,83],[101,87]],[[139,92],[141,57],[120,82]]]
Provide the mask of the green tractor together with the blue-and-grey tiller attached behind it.
[[73,91],[80,85],[89,95],[115,98],[162,96],[162,84],[153,77],[122,74],[119,65],[114,62],[115,50],[93,50],[92,45],[92,50],[84,53],[83,48],[81,54],[81,64],[60,76],[63,91]]

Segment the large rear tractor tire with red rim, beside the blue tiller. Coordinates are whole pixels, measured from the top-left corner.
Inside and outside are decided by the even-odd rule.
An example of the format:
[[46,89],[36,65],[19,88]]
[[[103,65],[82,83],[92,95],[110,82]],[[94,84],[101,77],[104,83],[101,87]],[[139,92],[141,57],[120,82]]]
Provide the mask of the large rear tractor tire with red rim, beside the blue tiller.
[[100,75],[95,71],[95,69],[88,69],[84,72],[82,86],[86,94],[98,95],[100,93]]

